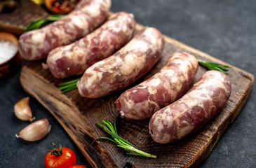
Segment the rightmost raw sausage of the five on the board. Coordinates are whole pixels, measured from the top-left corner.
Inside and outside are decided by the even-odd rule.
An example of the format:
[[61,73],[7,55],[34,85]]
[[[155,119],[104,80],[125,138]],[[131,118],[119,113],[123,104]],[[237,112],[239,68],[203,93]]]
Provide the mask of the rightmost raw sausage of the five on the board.
[[165,144],[196,132],[224,107],[230,94],[227,75],[206,71],[181,99],[154,113],[149,121],[151,137]]

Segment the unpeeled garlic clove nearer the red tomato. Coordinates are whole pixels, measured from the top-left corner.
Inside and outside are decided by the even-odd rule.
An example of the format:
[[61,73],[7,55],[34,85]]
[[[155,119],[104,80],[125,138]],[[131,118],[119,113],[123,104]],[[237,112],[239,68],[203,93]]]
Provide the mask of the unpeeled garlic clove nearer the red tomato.
[[46,137],[50,132],[51,125],[46,118],[38,120],[30,125],[27,125],[23,130],[20,131],[19,135],[15,135],[17,138],[24,139],[26,141],[39,141]]

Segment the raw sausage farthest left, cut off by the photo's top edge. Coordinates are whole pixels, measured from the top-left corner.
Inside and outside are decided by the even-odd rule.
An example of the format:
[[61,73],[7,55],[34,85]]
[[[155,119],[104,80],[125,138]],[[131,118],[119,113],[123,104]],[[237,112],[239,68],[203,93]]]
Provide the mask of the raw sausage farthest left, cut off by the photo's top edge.
[[76,41],[93,31],[107,18],[111,0],[83,0],[59,20],[19,38],[19,51],[27,60],[47,57],[50,50]]

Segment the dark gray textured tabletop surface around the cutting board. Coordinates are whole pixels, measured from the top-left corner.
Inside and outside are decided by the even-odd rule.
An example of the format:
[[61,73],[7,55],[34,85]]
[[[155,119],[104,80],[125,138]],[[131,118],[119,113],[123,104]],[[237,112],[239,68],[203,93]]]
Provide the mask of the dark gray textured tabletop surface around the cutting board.
[[[112,11],[121,10],[133,13],[142,25],[256,74],[256,1],[112,0]],[[48,118],[50,134],[36,143],[15,138],[29,124],[13,114],[15,102],[29,96],[20,86],[19,73],[0,80],[0,167],[44,167],[50,141],[57,137],[86,165],[72,139],[36,99],[30,102],[33,114],[38,120]],[[201,167],[256,167],[255,95],[253,85],[247,104]]]

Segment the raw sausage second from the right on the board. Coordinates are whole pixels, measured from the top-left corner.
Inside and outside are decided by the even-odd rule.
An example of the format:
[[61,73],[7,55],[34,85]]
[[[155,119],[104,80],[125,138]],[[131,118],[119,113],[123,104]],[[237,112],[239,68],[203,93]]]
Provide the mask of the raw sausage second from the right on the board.
[[121,94],[116,100],[121,116],[134,120],[150,118],[189,89],[197,69],[194,55],[175,52],[158,73]]

